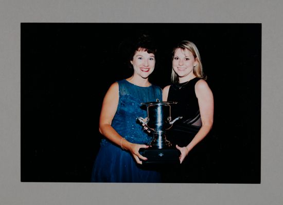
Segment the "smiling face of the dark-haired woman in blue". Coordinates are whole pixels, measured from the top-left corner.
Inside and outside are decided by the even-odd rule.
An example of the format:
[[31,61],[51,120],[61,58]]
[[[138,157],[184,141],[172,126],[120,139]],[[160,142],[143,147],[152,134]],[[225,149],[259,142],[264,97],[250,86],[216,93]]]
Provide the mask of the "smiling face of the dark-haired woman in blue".
[[148,53],[144,49],[139,49],[135,52],[131,64],[134,68],[134,74],[137,74],[143,78],[153,72],[155,66],[155,57],[153,53]]

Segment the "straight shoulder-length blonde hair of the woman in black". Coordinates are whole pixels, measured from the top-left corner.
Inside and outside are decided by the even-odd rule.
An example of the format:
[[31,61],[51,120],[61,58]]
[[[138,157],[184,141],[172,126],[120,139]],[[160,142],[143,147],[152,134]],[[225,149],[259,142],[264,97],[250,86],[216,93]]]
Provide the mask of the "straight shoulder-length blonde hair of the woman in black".
[[[175,51],[179,48],[182,49],[182,50],[188,49],[192,53],[193,57],[197,58],[196,60],[198,61],[198,65],[193,68],[193,74],[196,75],[196,77],[198,77],[198,78],[206,79],[206,76],[203,73],[201,56],[200,56],[200,53],[199,53],[197,46],[194,45],[194,43],[189,42],[188,40],[183,40],[173,49],[172,60],[174,58]],[[172,67],[172,72],[171,72],[171,80],[172,80],[172,83],[179,83],[179,77],[175,73],[173,67]]]

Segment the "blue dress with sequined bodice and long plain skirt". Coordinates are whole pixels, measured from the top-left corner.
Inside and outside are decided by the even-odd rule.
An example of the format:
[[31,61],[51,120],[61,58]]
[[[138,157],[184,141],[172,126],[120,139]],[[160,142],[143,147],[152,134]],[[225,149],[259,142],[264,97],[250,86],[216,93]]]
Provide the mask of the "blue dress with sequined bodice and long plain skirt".
[[[146,117],[140,103],[162,99],[160,87],[139,87],[126,79],[118,81],[119,104],[112,120],[112,127],[128,141],[149,144],[151,136],[137,123],[137,117]],[[107,138],[100,143],[92,172],[92,182],[161,182],[160,173],[138,165],[130,152],[122,150]]]

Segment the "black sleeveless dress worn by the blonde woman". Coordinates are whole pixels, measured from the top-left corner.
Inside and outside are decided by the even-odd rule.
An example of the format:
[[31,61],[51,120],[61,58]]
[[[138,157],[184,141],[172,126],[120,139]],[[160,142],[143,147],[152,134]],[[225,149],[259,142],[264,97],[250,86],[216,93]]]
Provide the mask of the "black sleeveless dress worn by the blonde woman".
[[[202,126],[198,98],[194,86],[200,78],[170,86],[167,101],[176,101],[171,107],[171,117],[183,118],[174,122],[167,132],[167,139],[175,146],[187,146]],[[204,147],[199,142],[180,165],[163,169],[162,180],[169,183],[201,182],[203,173]]]

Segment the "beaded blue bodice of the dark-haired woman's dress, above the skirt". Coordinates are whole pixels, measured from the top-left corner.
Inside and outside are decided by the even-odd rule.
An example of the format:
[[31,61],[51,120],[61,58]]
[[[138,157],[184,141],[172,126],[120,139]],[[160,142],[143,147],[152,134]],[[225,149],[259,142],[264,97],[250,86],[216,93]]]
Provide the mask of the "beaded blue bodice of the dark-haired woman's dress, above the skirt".
[[[119,103],[116,114],[112,120],[112,127],[128,141],[136,144],[149,144],[152,137],[144,131],[136,118],[146,117],[146,108],[141,107],[141,103],[162,99],[160,87],[151,85],[149,87],[139,87],[131,84],[126,79],[118,81]],[[101,146],[107,146],[110,141],[103,138]]]

